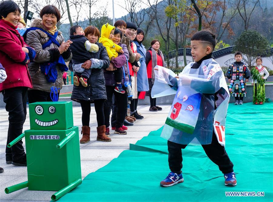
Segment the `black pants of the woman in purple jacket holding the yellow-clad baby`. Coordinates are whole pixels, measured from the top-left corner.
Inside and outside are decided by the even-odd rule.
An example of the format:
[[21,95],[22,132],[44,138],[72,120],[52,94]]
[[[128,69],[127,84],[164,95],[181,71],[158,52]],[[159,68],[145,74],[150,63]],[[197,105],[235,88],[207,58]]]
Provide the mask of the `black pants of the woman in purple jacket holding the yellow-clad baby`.
[[[125,89],[124,86],[123,88]],[[128,103],[127,94],[118,93],[114,89],[115,89],[114,86],[106,86],[107,101],[104,102],[104,106],[103,106],[106,128],[110,126],[109,121],[110,121],[111,107],[113,105],[112,103],[113,94],[115,95],[115,100],[116,100],[116,113],[114,114],[116,117],[116,123],[115,123],[116,128],[123,126],[123,122],[127,113],[127,103]],[[112,111],[112,116],[113,116],[113,111]],[[112,120],[111,120],[111,125],[112,127],[114,126],[112,124]]]

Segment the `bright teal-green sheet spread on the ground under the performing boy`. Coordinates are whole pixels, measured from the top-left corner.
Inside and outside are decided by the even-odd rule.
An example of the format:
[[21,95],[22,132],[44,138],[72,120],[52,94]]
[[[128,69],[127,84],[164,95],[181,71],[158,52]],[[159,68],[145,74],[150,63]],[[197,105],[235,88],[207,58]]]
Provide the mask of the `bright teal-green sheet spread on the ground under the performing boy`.
[[[229,104],[226,150],[237,186],[224,186],[223,174],[200,145],[182,150],[184,183],[160,187],[169,173],[162,128],[90,173],[59,201],[273,201],[273,103]],[[226,191],[263,191],[264,197],[226,197]]]

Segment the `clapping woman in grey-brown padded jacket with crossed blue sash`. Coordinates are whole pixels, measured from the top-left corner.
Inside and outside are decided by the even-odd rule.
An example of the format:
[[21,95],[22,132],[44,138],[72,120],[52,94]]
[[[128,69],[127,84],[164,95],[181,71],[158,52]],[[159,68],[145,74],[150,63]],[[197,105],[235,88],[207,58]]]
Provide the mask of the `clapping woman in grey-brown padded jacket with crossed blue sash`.
[[[62,33],[56,27],[61,17],[59,10],[54,5],[47,5],[41,10],[40,17],[42,20],[34,19],[25,35],[25,42],[36,50],[35,59],[28,65],[33,84],[33,89],[28,91],[29,103],[51,101],[50,88],[62,88],[62,73],[68,70],[64,62],[72,57],[69,50],[72,42],[64,42]],[[49,71],[46,69],[48,64],[54,65]]]

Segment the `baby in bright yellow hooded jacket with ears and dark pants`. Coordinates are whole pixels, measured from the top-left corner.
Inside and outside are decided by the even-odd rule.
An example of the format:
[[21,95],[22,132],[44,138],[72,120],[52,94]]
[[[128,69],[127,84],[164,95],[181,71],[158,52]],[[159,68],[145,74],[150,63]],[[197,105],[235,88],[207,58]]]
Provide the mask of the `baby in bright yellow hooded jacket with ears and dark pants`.
[[[122,54],[124,53],[124,51],[122,50],[122,47],[120,47],[119,45],[115,44],[112,41],[114,37],[114,31],[115,31],[115,27],[106,23],[101,28],[101,37],[99,38],[99,43],[102,43],[103,46],[105,46],[110,60],[113,60],[115,57],[117,57],[119,53],[122,53]],[[124,94],[125,91],[123,90],[121,85],[121,80],[122,80],[121,68],[117,68],[117,70],[115,70],[115,80],[117,84],[115,87],[115,91],[117,91],[118,93]]]

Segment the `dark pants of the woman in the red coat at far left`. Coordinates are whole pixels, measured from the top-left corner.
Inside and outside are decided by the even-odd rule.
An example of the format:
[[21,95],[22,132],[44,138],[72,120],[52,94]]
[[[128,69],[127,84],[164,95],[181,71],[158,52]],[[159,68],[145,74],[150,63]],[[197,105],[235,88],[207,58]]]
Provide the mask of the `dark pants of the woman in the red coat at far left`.
[[[7,145],[22,134],[26,117],[27,87],[14,87],[3,91],[6,111],[8,111]],[[6,161],[17,161],[25,156],[23,142],[20,140],[11,148],[6,146]]]

